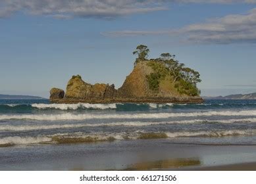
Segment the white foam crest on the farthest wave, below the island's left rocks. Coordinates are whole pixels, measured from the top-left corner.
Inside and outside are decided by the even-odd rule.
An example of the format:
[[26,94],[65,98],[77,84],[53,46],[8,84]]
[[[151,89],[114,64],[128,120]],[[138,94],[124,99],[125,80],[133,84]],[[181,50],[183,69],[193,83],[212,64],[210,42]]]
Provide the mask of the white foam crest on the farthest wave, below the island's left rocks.
[[60,110],[76,110],[78,108],[93,108],[93,109],[108,109],[116,108],[116,104],[90,104],[90,103],[77,103],[77,104],[32,104],[32,107],[39,109],[55,108]]

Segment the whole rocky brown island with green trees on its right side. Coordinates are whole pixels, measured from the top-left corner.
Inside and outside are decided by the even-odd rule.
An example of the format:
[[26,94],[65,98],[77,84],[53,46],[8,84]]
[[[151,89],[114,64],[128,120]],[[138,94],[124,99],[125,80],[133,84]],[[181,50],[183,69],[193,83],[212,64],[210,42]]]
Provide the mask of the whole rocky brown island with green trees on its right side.
[[81,76],[72,76],[62,89],[50,91],[52,103],[202,103],[197,83],[199,72],[186,68],[174,55],[161,54],[147,59],[149,49],[139,45],[134,69],[122,87],[105,83],[86,83]]

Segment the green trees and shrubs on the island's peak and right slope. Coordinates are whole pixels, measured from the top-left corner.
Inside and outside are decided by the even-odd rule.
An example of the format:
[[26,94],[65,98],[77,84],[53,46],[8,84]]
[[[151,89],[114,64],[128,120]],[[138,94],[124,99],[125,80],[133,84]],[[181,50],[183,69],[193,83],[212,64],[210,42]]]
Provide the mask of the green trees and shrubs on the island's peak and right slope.
[[175,59],[175,55],[170,53],[162,53],[160,58],[148,60],[149,49],[146,45],[138,45],[136,51],[133,52],[134,55],[138,55],[136,62],[149,62],[150,66],[154,69],[154,73],[147,76],[149,81],[149,87],[153,90],[157,90],[159,87],[159,80],[165,78],[166,74],[172,76],[172,82],[175,83],[175,87],[180,93],[186,95],[196,96],[199,95],[200,91],[197,89],[197,83],[201,82],[199,72],[188,68],[185,64],[180,63]]

